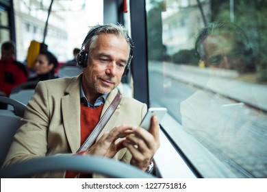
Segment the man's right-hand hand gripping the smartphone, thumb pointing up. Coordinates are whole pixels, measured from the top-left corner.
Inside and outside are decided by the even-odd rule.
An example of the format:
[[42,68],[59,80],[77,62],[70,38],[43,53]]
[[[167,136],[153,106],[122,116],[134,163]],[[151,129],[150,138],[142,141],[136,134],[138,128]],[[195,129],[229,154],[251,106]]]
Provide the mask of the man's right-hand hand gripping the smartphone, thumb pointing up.
[[131,152],[132,158],[130,164],[146,171],[149,167],[153,156],[160,147],[160,125],[157,117],[151,118],[149,132],[144,128],[137,128],[134,134],[126,136],[123,145]]

